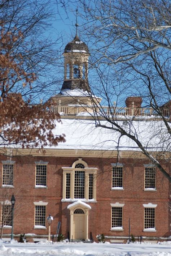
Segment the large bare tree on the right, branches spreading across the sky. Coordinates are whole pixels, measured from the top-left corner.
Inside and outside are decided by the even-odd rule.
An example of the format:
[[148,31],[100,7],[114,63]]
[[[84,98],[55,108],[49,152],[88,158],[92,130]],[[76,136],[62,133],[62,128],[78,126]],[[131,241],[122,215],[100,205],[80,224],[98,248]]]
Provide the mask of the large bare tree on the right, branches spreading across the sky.
[[[166,169],[171,136],[170,1],[69,2],[74,8],[78,5],[83,22],[80,33],[88,40],[93,77],[96,73],[93,80],[89,72],[92,94],[104,99],[100,103],[90,95],[96,127],[119,133],[118,148],[122,137],[128,137],[171,181]],[[132,102],[130,114],[123,101],[128,96],[141,97],[144,110]],[[146,108],[149,108],[148,119],[143,117]],[[150,134],[146,137],[142,137],[137,125],[143,119],[148,120],[144,129]]]

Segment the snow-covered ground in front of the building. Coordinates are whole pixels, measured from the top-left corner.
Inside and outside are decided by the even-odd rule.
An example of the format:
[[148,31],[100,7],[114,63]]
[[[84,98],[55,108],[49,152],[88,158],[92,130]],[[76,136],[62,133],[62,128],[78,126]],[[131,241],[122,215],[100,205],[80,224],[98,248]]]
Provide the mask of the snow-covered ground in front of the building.
[[158,244],[131,243],[5,243],[0,242],[0,255],[30,256],[30,255],[117,255],[117,256],[170,256],[171,242]]

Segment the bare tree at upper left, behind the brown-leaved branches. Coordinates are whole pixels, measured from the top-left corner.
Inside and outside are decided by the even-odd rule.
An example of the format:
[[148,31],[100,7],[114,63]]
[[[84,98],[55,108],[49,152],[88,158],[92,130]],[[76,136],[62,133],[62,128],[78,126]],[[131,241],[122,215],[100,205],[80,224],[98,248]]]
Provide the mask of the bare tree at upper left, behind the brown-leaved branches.
[[14,82],[10,91],[21,93],[24,99],[29,98],[33,102],[40,101],[43,97],[48,99],[61,80],[60,72],[58,77],[56,75],[56,69],[62,37],[57,31],[56,38],[51,36],[54,18],[53,3],[50,0],[3,0],[0,5],[0,21],[5,33],[15,34],[17,30],[22,34],[13,43],[11,55],[22,62],[26,73],[34,73],[36,76],[31,90]]

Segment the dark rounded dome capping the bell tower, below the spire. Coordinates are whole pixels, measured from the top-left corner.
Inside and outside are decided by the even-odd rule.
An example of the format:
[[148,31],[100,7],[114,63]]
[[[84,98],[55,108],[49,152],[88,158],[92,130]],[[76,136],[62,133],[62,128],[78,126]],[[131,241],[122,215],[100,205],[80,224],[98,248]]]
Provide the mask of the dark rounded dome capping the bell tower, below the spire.
[[80,52],[89,54],[87,45],[79,39],[78,35],[74,37],[73,41],[67,43],[65,46],[64,53],[67,52]]

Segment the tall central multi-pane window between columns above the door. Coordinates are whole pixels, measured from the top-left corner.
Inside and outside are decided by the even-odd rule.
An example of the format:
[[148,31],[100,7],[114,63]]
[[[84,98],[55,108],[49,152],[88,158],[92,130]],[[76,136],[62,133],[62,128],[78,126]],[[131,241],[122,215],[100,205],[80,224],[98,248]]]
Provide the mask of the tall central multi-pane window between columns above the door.
[[75,171],[74,198],[84,198],[85,172]]

